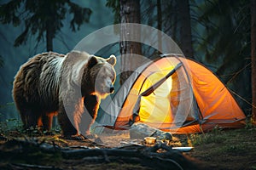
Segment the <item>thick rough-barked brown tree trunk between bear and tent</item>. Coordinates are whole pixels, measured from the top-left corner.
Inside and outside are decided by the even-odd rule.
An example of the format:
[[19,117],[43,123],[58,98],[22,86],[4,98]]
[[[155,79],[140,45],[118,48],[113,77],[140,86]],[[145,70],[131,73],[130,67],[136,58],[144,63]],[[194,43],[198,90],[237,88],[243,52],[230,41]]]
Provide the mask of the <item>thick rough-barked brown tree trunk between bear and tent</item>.
[[[132,27],[125,26],[125,23],[140,23],[140,1],[139,0],[120,0],[120,19],[121,19],[121,38],[140,37],[140,31],[134,30]],[[120,84],[131,76],[131,73],[142,64],[142,61],[134,54],[142,54],[142,46],[140,42],[122,41],[119,44],[121,54],[120,65]]]

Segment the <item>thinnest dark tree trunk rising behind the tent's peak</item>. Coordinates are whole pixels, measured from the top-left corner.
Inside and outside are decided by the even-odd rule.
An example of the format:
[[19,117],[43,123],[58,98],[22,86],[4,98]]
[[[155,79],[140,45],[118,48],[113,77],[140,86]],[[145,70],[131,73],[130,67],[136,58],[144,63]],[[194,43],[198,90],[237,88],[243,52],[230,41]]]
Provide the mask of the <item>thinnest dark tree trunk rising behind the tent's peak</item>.
[[159,30],[158,32],[158,50],[162,50],[162,8],[161,8],[161,0],[157,0],[157,29]]

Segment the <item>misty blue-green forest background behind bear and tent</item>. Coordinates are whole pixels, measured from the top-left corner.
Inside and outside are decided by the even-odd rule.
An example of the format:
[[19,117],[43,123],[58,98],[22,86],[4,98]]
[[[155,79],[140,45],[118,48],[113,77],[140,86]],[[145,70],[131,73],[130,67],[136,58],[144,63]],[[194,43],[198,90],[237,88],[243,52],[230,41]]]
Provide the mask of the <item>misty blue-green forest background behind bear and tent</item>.
[[[104,26],[137,22],[153,26],[177,42],[187,58],[212,70],[230,88],[247,116],[252,114],[251,2],[249,0],[94,0],[0,1],[0,121],[20,119],[12,82],[20,65],[35,54],[67,54],[80,40]],[[129,7],[129,13],[124,12]],[[40,20],[38,20],[38,18]],[[129,42],[128,42],[129,43]],[[127,44],[125,44],[127,45]],[[129,45],[129,44],[128,44]],[[130,44],[131,45],[131,44]],[[120,44],[96,55],[118,56]],[[122,46],[124,47],[124,46]],[[159,52],[133,44],[149,59]],[[131,65],[135,65],[132,63]],[[131,73],[119,75],[116,86]]]

